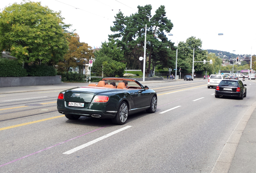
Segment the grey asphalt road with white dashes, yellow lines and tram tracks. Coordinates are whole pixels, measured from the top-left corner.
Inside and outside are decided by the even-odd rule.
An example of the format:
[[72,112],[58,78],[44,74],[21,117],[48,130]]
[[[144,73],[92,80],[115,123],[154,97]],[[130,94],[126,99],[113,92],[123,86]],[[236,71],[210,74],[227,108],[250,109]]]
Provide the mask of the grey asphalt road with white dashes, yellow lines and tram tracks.
[[215,98],[206,80],[145,83],[157,91],[156,113],[122,126],[66,119],[56,109],[61,89],[1,94],[0,172],[211,173],[256,100],[256,84],[244,83],[244,100]]

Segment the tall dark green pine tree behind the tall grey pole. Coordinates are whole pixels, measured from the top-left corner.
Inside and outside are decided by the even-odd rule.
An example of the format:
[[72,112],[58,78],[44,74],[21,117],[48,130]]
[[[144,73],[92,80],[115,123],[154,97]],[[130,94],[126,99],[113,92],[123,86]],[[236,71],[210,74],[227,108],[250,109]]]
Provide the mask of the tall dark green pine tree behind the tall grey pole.
[[167,50],[167,47],[173,46],[173,43],[165,35],[165,32],[170,32],[173,24],[165,17],[165,6],[160,6],[154,16],[151,16],[151,10],[151,5],[138,6],[137,13],[126,17],[119,12],[115,16],[114,26],[110,27],[115,34],[109,35],[109,39],[114,38],[118,46],[124,50],[127,67],[133,68],[137,63],[143,71],[143,61],[140,61],[139,57],[144,56],[145,25],[147,24],[146,73],[158,64],[169,67],[173,59],[172,54]]

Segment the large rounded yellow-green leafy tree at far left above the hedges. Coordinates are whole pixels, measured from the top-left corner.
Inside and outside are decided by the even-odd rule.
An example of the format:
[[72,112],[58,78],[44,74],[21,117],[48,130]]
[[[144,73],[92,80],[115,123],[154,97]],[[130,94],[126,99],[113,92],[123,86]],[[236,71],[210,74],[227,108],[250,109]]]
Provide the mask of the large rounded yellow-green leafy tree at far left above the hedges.
[[14,3],[0,13],[0,50],[10,51],[19,62],[54,64],[68,50],[60,12],[40,2]]

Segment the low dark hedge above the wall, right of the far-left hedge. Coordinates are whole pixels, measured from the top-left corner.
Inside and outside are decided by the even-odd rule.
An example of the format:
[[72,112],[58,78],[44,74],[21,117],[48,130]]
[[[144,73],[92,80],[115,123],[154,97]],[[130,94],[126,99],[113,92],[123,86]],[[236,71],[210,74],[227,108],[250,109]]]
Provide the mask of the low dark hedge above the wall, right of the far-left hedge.
[[57,72],[53,66],[31,65],[27,68],[28,76],[56,76]]

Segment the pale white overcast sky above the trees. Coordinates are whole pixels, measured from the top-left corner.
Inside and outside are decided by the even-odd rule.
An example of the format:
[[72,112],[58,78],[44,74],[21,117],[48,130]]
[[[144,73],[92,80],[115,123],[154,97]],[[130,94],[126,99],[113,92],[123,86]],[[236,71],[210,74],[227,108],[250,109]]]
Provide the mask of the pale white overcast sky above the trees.
[[[173,23],[168,36],[175,42],[194,36],[202,41],[202,49],[213,49],[234,54],[256,54],[255,0],[31,0],[41,2],[61,16],[71,30],[92,48],[100,47],[114,34],[115,16],[119,10],[124,16],[138,12],[137,6],[151,4],[151,14],[161,5],[165,6],[166,17]],[[2,0],[0,11],[14,2]],[[223,33],[223,35],[218,35]],[[167,33],[168,34],[168,33]]]

